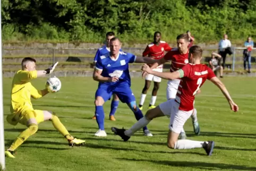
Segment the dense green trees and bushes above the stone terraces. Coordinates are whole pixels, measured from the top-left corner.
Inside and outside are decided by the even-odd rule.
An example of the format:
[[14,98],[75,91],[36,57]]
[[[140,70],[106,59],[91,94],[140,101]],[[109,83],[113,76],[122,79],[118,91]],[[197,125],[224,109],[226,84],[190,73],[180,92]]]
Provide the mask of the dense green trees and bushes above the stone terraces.
[[173,42],[191,30],[197,42],[223,33],[234,42],[256,35],[255,11],[256,0],[3,0],[3,40],[101,42],[115,31],[123,41],[146,42],[158,30]]

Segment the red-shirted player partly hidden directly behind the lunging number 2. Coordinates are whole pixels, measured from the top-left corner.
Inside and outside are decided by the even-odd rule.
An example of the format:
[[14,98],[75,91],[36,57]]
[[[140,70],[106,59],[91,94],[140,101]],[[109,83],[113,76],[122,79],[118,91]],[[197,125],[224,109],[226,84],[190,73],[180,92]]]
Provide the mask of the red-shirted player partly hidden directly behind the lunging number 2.
[[[161,58],[157,63],[151,65],[151,69],[155,69],[157,66],[166,63],[167,61],[172,61],[170,65],[170,72],[175,72],[189,63],[189,36],[187,33],[178,35],[177,38],[177,47],[170,50],[163,58]],[[146,74],[143,74],[143,76]],[[169,80],[166,88],[166,98],[175,99],[176,93],[178,90],[178,85],[180,84],[180,79]],[[194,133],[196,135],[200,134],[200,126],[197,118],[197,109],[194,109],[193,114],[191,115]],[[181,139],[186,139],[186,133],[184,129],[181,131]]]

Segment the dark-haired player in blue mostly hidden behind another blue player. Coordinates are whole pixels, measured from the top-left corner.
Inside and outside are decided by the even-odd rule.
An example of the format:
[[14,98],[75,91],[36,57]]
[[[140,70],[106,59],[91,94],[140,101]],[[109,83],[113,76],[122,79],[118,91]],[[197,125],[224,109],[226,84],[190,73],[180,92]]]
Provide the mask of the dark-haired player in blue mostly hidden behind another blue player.
[[[104,54],[110,52],[109,41],[110,41],[110,39],[112,39],[114,37],[115,37],[114,32],[110,31],[110,32],[106,33],[106,45],[103,45],[101,48],[99,48],[97,50],[97,53],[96,53],[96,55],[93,59],[95,64],[96,64],[96,62],[98,61],[98,59],[100,58],[101,55],[104,55]],[[122,49],[120,49],[120,51],[122,51]],[[110,100],[110,98],[109,98],[109,100]],[[115,113],[116,113],[116,109],[118,107],[118,104],[119,104],[119,98],[115,94],[113,94],[113,98],[112,98],[112,101],[111,101],[111,109],[110,109],[110,113],[109,113],[109,120],[110,121],[116,121]],[[92,117],[92,119],[96,119],[96,115],[94,115]]]

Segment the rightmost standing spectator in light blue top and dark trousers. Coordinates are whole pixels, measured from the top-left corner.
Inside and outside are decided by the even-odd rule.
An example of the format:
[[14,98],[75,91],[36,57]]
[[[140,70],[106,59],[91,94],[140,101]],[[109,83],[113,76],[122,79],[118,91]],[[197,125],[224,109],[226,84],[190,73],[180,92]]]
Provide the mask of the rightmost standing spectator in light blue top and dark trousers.
[[244,42],[244,46],[246,49],[244,49],[244,70],[246,70],[246,62],[248,62],[248,72],[251,73],[251,52],[252,48],[254,46],[254,43],[252,41],[251,37],[247,38],[247,41]]

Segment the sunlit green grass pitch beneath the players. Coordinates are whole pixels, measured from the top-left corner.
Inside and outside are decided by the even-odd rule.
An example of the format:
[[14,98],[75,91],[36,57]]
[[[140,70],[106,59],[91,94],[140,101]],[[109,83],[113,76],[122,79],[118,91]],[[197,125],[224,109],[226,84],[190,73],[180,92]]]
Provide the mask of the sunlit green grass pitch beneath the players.
[[[142,131],[130,141],[123,142],[110,131],[110,127],[129,128],[135,123],[133,113],[125,104],[117,109],[117,121],[109,121],[110,101],[105,104],[106,138],[93,134],[98,130],[93,99],[97,82],[92,78],[60,78],[61,91],[32,100],[35,109],[53,110],[73,136],[85,139],[83,147],[70,148],[66,140],[55,131],[51,122],[41,123],[39,131],[18,148],[15,159],[6,158],[7,170],[256,170],[256,78],[224,78],[234,101],[240,107],[231,112],[226,99],[207,81],[195,99],[201,135],[195,136],[191,119],[185,124],[187,139],[214,140],[212,156],[203,149],[172,150],[166,146],[169,119],[156,118],[149,125],[153,137]],[[12,79],[5,78],[4,115],[9,113]],[[33,81],[43,89],[46,78]],[[132,89],[139,102],[144,81],[132,79]],[[149,104],[151,89],[144,104]],[[161,83],[157,104],[165,101],[166,81]],[[4,123],[5,148],[25,129],[23,125]]]

